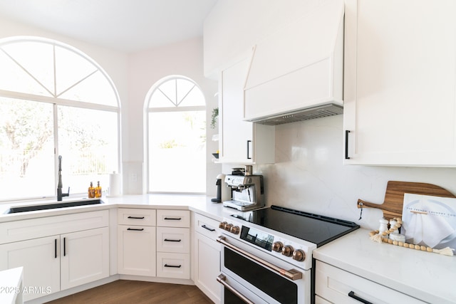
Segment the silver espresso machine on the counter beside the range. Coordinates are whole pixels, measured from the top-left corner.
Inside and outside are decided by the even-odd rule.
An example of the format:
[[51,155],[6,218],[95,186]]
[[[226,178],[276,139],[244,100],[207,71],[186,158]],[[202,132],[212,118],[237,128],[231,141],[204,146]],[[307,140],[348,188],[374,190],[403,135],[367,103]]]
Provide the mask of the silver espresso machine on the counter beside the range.
[[240,211],[264,207],[262,175],[227,175],[224,182],[231,188],[232,199],[223,201],[223,206]]

